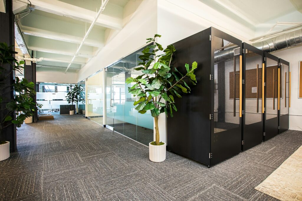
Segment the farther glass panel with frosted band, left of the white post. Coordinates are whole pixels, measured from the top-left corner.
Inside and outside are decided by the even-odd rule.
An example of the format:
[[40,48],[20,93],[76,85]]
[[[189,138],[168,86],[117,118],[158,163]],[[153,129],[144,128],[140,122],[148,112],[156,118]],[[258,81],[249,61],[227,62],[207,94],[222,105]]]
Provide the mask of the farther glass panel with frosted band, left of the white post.
[[104,71],[101,71],[86,80],[86,115],[101,125],[103,124],[103,77]]

